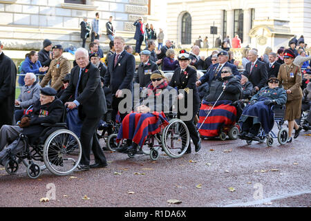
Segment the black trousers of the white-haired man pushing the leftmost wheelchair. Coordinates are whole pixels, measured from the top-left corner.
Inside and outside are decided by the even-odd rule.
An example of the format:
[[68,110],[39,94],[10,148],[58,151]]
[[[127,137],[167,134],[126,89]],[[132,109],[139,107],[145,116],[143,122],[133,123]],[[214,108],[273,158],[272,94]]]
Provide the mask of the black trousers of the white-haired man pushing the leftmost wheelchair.
[[100,147],[100,141],[96,135],[96,128],[98,122],[100,122],[101,117],[88,118],[86,117],[82,123],[82,130],[80,135],[80,141],[82,144],[82,158],[81,164],[90,164],[91,150],[93,151],[95,157],[95,163],[105,164],[106,157],[102,148]]

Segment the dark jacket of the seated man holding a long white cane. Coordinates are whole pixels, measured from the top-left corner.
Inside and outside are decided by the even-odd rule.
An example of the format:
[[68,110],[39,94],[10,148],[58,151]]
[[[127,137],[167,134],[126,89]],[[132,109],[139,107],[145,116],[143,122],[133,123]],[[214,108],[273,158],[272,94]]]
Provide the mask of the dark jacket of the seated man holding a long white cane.
[[[223,86],[225,90],[223,90]],[[229,77],[225,77],[222,79],[221,77],[211,81],[211,85],[209,86],[208,95],[205,96],[205,101],[207,102],[216,102],[220,94],[223,92],[223,95],[219,98],[219,100],[229,100],[232,102],[237,101],[241,95],[241,83],[240,80],[236,79],[233,75]]]

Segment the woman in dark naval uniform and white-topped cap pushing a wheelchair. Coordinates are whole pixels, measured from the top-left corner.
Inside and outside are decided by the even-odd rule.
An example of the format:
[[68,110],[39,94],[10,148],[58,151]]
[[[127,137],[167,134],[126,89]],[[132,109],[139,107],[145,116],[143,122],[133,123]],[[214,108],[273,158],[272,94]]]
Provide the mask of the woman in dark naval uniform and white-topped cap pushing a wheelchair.
[[[195,150],[196,152],[198,152],[201,148],[201,140],[196,125],[194,124],[194,118],[196,117],[196,114],[198,113],[198,110],[200,108],[200,97],[198,94],[198,89],[196,88],[197,73],[194,68],[191,68],[189,66],[190,58],[186,50],[180,50],[180,55],[178,55],[178,61],[180,67],[175,69],[169,86],[177,88],[179,93],[178,118],[182,119],[186,116],[187,118],[189,118],[189,114],[191,115],[191,119],[182,119],[182,121],[184,121],[187,125],[191,140],[194,142]],[[184,91],[182,92],[182,90]],[[180,102],[182,102],[182,99],[185,102],[185,107],[180,106]],[[187,106],[188,99],[190,99],[191,106]],[[181,108],[185,108],[186,110],[182,111]],[[191,108],[193,109],[191,110]],[[192,111],[192,113],[188,113],[190,110]],[[191,153],[190,143],[187,147],[186,153]]]

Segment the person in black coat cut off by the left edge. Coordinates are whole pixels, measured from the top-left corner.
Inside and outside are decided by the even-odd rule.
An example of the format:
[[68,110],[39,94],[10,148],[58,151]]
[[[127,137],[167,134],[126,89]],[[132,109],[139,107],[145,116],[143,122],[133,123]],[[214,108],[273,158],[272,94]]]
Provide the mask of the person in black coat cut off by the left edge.
[[0,41],[0,128],[13,122],[17,74],[14,62],[4,55],[2,49],[3,44]]

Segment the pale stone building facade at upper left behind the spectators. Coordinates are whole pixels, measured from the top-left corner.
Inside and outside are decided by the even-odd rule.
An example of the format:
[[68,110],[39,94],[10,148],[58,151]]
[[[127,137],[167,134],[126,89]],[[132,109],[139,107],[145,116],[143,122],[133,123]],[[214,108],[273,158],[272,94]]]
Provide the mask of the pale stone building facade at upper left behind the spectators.
[[109,44],[105,24],[110,16],[116,35],[135,44],[133,22],[142,16],[159,28],[165,23],[160,7],[159,1],[151,0],[0,0],[0,39],[11,50],[39,50],[44,39],[79,47],[79,23],[83,17],[91,22],[99,12],[102,44]]

